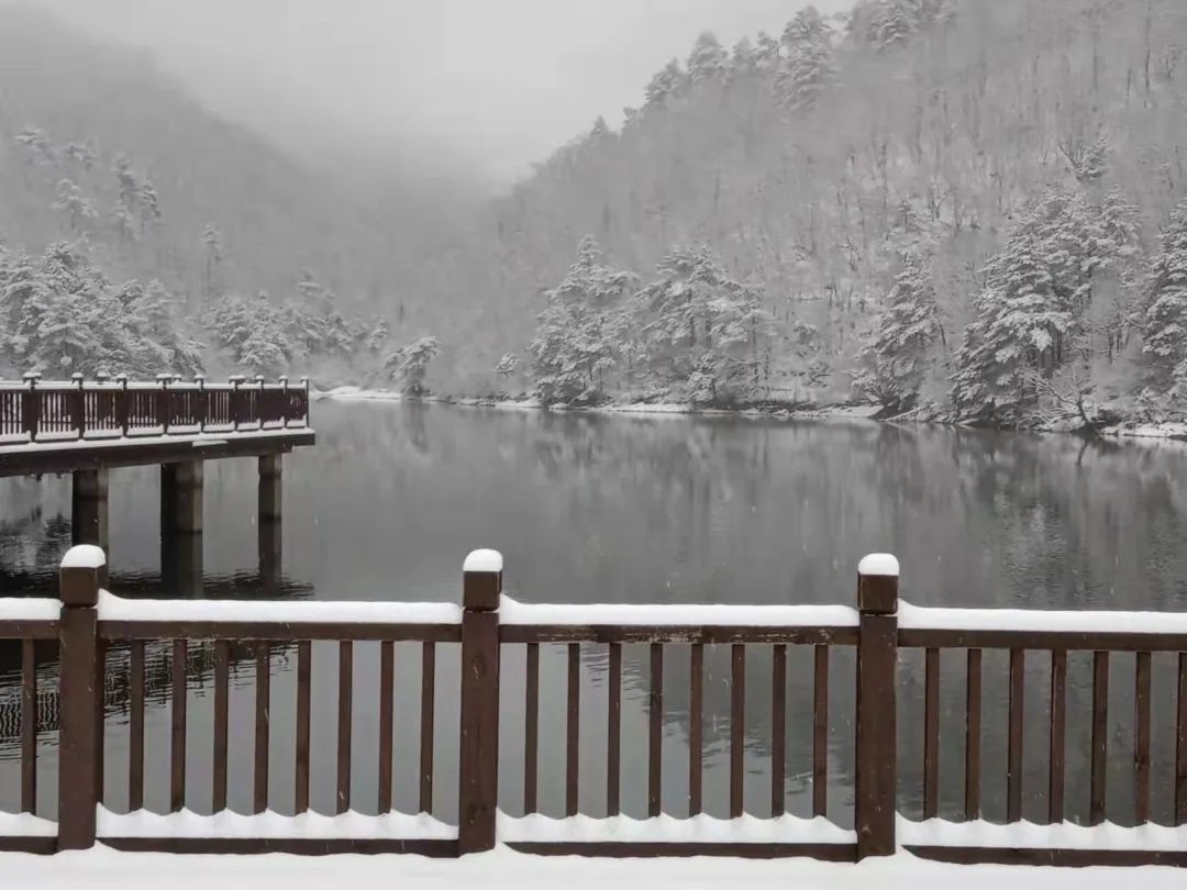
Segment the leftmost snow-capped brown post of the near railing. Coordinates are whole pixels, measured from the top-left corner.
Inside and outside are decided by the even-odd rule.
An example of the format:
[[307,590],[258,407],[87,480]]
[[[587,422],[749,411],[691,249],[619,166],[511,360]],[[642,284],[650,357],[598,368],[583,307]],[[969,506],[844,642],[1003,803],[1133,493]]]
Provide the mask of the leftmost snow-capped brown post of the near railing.
[[58,705],[58,850],[95,846],[100,805],[99,751],[102,678],[99,676],[99,589],[107,581],[107,558],[93,545],[71,547],[62,558],[58,596],[61,692]]

